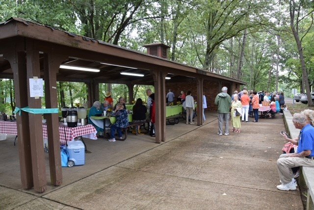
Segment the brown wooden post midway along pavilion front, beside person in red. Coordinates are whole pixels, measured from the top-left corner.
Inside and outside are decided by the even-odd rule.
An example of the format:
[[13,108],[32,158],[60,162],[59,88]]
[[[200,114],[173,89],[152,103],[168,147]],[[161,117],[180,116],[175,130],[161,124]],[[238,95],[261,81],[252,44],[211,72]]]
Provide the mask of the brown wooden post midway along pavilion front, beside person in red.
[[154,72],[155,85],[155,105],[156,105],[156,123],[155,134],[156,143],[166,139],[166,97],[165,97],[165,73],[163,71]]

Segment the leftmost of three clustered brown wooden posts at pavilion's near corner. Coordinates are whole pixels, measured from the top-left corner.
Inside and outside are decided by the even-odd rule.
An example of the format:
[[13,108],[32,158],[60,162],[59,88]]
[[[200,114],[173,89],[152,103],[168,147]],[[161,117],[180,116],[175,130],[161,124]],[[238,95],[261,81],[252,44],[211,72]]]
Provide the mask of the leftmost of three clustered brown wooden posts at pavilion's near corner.
[[[24,46],[24,42],[17,42],[16,46]],[[1,46],[4,47],[4,46]],[[11,50],[9,50],[11,49]],[[23,108],[27,104],[27,83],[26,83],[26,54],[24,49],[14,49],[14,46],[8,48],[4,57],[10,62],[13,71],[14,88],[15,88],[15,105]],[[16,115],[17,130],[19,136],[19,158],[21,183],[23,189],[33,187],[33,172],[31,162],[30,138],[28,127],[28,114],[23,113],[22,116]]]

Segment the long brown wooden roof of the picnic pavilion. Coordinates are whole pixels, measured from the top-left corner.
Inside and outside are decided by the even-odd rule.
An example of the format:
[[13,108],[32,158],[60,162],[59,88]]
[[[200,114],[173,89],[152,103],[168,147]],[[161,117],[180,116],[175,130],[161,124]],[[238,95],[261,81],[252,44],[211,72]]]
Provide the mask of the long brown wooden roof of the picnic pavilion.
[[[42,42],[50,48],[62,47],[64,52],[70,52],[68,59],[62,64],[80,67],[97,68],[99,73],[59,69],[58,81],[82,81],[93,79],[104,83],[134,83],[154,84],[151,71],[162,68],[170,80],[166,82],[183,81],[187,77],[223,80],[244,84],[243,81],[190,67],[182,63],[170,61],[158,56],[149,55],[123,47],[112,45],[100,40],[62,31],[51,26],[44,26],[20,18],[11,18],[0,24],[0,44],[14,43],[14,37],[24,37]],[[1,45],[0,45],[1,46]],[[12,44],[12,47],[13,44]],[[40,54],[40,69],[43,76],[43,54]],[[128,68],[130,67],[130,68]],[[134,69],[135,68],[135,69]],[[140,73],[145,76],[130,77],[120,75],[120,72]],[[0,47],[0,78],[13,78],[9,62],[1,55]]]

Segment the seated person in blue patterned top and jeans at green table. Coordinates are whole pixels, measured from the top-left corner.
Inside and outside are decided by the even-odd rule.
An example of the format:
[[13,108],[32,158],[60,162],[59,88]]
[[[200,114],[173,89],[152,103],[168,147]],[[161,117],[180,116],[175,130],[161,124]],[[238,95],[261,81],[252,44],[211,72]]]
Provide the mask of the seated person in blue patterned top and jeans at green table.
[[118,132],[119,139],[122,139],[121,129],[129,126],[128,111],[123,108],[122,104],[118,103],[116,105],[115,112],[112,116],[116,117],[116,122],[110,127],[110,138],[108,141],[116,141],[114,138],[116,131]]

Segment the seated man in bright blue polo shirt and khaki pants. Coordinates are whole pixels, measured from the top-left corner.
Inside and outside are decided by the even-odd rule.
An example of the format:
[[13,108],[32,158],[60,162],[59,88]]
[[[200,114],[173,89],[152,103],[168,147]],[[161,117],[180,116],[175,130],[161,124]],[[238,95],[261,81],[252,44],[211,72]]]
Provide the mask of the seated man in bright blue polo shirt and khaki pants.
[[280,190],[295,190],[296,182],[292,178],[291,168],[297,166],[314,166],[314,127],[307,117],[301,113],[295,113],[292,118],[296,129],[301,129],[298,138],[290,139],[283,133],[284,138],[294,145],[298,145],[297,153],[282,154],[277,160],[280,182],[277,185]]

